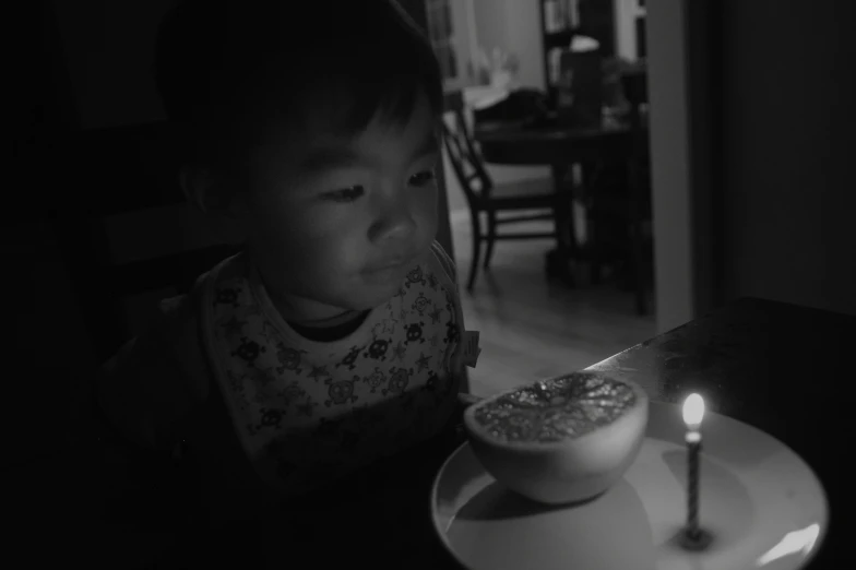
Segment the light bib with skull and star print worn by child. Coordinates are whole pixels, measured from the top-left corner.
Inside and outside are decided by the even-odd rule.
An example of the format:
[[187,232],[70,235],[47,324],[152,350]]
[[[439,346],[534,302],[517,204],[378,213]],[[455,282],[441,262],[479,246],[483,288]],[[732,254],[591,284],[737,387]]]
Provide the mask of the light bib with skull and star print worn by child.
[[346,339],[319,343],[280,316],[238,254],[203,285],[205,348],[261,478],[302,494],[437,434],[454,412],[461,309],[435,244]]

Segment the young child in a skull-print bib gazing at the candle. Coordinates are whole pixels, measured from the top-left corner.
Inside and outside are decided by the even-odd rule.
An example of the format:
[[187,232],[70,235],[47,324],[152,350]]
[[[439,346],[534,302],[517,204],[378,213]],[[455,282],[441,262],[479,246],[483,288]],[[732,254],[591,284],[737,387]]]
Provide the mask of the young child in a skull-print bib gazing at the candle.
[[107,363],[106,418],[222,521],[382,487],[355,474],[449,434],[464,367],[430,45],[391,0],[188,0],[156,69],[188,200],[243,249]]

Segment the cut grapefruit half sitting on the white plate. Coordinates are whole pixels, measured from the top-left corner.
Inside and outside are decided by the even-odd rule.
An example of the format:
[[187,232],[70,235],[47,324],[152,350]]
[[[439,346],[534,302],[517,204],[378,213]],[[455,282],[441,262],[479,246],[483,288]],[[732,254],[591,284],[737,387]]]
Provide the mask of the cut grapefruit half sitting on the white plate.
[[635,459],[647,425],[642,388],[579,371],[471,405],[473,452],[500,484],[557,504],[604,492]]

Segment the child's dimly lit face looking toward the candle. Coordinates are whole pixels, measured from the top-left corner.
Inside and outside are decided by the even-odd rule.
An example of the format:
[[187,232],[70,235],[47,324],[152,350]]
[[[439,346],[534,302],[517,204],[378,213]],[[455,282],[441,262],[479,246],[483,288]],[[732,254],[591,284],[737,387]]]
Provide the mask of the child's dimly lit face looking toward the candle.
[[437,231],[436,124],[423,99],[403,128],[376,118],[354,138],[321,129],[253,154],[246,231],[286,318],[323,320],[395,295]]

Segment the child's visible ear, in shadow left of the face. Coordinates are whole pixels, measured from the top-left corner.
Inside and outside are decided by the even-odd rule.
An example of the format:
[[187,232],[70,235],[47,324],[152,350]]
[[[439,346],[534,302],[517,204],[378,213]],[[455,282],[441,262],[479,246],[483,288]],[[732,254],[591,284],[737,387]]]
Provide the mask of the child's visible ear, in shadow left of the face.
[[179,180],[190,209],[206,219],[218,238],[229,244],[245,239],[243,201],[228,180],[207,168],[193,166],[182,167]]

